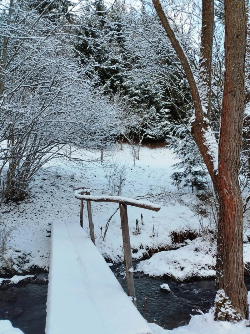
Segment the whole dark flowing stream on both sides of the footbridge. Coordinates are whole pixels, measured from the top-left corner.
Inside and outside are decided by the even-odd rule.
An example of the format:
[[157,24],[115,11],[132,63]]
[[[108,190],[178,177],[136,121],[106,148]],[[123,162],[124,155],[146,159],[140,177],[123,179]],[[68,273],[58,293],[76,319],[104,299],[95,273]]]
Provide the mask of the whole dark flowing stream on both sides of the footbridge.
[[[112,271],[126,291],[124,266],[114,266]],[[39,274],[37,277],[45,278],[47,275]],[[197,314],[198,309],[207,312],[214,303],[214,279],[176,283],[134,273],[134,282],[138,310],[142,313],[147,297],[145,318],[156,321],[165,329],[187,324],[190,314]],[[163,283],[169,285],[171,292],[160,289]],[[250,290],[250,276],[245,277],[245,283]],[[47,285],[30,283],[0,290],[0,320],[9,319],[24,334],[44,334],[47,290]]]

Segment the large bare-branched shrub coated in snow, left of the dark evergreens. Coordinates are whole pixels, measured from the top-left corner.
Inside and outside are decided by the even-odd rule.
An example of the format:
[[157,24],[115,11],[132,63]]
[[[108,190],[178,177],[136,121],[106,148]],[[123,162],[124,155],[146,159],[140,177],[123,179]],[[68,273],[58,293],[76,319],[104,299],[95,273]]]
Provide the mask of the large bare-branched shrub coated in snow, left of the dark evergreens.
[[8,36],[0,56],[2,200],[22,200],[37,170],[65,157],[65,146],[103,149],[117,135],[118,111],[93,89],[93,64],[75,57],[68,21],[59,15],[55,25],[26,2],[13,6],[0,8],[0,35]]

